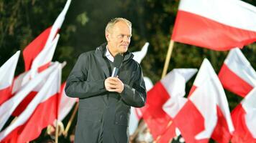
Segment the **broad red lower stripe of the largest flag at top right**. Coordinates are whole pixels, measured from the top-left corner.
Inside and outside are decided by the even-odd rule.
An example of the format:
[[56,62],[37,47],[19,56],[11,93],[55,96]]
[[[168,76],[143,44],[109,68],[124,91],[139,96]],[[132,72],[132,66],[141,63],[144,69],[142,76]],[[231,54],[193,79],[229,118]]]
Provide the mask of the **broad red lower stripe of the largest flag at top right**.
[[172,39],[214,50],[242,48],[256,40],[256,32],[238,29],[186,11],[178,11]]

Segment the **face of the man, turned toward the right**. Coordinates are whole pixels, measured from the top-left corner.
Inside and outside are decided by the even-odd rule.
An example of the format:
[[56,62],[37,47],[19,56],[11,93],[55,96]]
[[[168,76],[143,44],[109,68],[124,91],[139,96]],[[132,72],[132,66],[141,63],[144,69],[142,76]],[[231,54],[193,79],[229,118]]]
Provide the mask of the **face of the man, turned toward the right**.
[[118,53],[125,53],[131,41],[131,36],[132,29],[126,23],[119,21],[114,24],[112,29],[106,32],[108,48],[111,54],[115,56]]

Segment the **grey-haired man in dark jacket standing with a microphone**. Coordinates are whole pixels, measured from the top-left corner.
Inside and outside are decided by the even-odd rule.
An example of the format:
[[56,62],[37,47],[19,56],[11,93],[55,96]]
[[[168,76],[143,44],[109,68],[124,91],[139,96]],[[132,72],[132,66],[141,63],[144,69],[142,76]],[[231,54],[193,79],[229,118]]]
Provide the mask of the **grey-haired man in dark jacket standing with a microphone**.
[[[106,26],[107,44],[79,56],[65,92],[79,98],[76,143],[128,142],[130,107],[143,107],[146,89],[140,64],[127,51],[132,24],[115,18]],[[110,77],[116,54],[124,59],[116,77]]]

